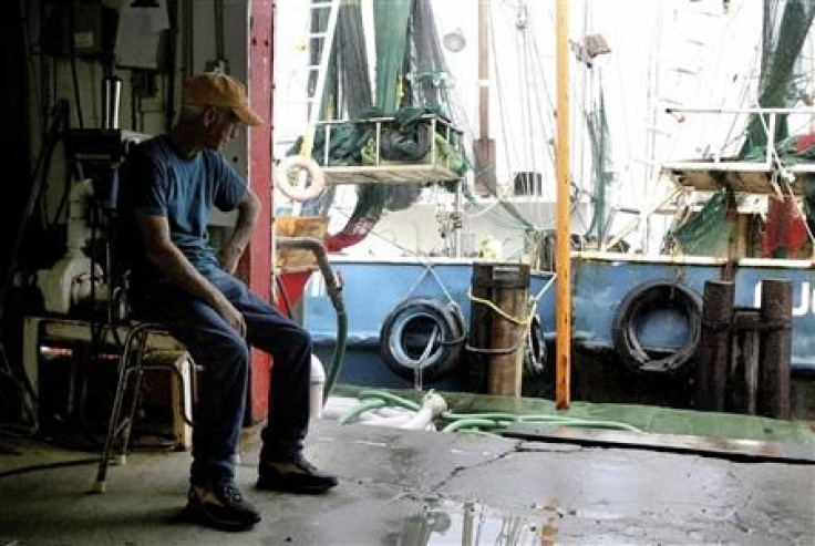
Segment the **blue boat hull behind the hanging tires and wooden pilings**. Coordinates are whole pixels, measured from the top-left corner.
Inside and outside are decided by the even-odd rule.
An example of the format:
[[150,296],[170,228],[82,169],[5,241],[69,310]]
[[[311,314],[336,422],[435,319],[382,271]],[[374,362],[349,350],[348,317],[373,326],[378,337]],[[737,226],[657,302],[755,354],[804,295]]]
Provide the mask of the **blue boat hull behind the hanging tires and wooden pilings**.
[[[413,382],[396,375],[380,358],[380,329],[385,317],[410,297],[455,301],[465,324],[470,320],[467,290],[472,261],[433,259],[423,262],[404,260],[332,259],[342,278],[348,311],[348,344],[339,381],[381,388],[411,388]],[[628,255],[579,253],[572,260],[572,339],[578,350],[612,354],[615,311],[623,298],[640,285],[652,280],[681,284],[699,292],[704,282],[725,277],[725,268],[735,280],[736,306],[757,307],[763,279],[787,279],[793,285],[794,371],[815,370],[815,271],[809,262],[787,260],[743,260],[737,266],[714,258],[643,259]],[[533,275],[529,293],[544,290],[536,315],[549,346],[554,342],[555,287],[553,275]],[[314,275],[303,293],[303,323],[312,333],[317,356],[331,361],[336,347],[337,321],[322,279]],[[685,317],[675,312],[656,312],[638,326],[643,347],[674,348],[684,343],[689,331]],[[572,365],[584,363],[576,361]],[[468,390],[466,373],[451,373],[423,385],[443,390]]]

